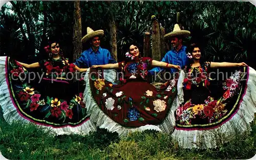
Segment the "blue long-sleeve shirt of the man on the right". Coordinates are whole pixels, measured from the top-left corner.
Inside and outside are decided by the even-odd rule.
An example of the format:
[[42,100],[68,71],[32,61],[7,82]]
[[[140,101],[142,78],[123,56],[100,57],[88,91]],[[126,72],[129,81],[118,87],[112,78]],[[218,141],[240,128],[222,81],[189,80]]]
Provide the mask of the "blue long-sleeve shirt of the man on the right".
[[[164,58],[162,59],[162,62],[173,64],[173,65],[179,65],[181,68],[183,68],[185,65],[188,64],[188,57],[186,55],[186,46],[182,46],[179,51],[176,51],[176,49],[172,49],[168,51]],[[154,75],[155,73],[158,73],[160,70],[163,70],[163,68],[155,67],[152,70],[150,70],[151,75]],[[170,73],[175,73],[177,69],[170,68]]]

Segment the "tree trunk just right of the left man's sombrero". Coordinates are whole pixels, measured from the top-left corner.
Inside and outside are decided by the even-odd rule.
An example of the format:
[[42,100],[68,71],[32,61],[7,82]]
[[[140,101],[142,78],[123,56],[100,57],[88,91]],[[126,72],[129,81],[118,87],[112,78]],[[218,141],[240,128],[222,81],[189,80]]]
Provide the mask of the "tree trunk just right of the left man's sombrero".
[[116,44],[117,28],[116,28],[116,22],[113,18],[111,18],[109,25],[110,25],[111,54],[113,55],[113,58],[117,61],[117,44]]

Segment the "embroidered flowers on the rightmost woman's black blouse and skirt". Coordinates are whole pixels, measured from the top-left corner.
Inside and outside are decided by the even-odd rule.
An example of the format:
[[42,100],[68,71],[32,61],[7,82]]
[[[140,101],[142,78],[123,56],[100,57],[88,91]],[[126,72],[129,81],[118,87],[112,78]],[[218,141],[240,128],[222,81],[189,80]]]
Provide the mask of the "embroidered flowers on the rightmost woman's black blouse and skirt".
[[[207,88],[209,86],[209,78],[207,75],[209,65],[205,64],[205,66],[199,66],[196,68],[185,68],[184,71],[188,71],[187,77],[184,79],[184,89],[190,90],[191,87],[194,88],[198,86],[204,86]],[[198,74],[197,74],[198,73]],[[199,75],[195,77],[195,75]],[[215,100],[213,97],[208,97],[205,99],[205,103],[191,103],[190,99],[185,99],[185,102],[179,106],[176,110],[176,123],[178,126],[190,126],[190,125],[201,125],[207,124],[210,125],[212,123],[219,122],[224,116],[226,116],[230,107],[227,108],[226,105],[229,103],[230,98],[241,87],[241,78],[242,72],[237,71],[228,79],[225,80],[223,84],[224,94]],[[209,90],[206,90],[209,92]],[[184,92],[184,94],[187,92]],[[193,92],[196,93],[196,92]],[[205,93],[209,94],[209,93]],[[184,95],[186,96],[186,95]],[[191,95],[197,96],[197,95]]]

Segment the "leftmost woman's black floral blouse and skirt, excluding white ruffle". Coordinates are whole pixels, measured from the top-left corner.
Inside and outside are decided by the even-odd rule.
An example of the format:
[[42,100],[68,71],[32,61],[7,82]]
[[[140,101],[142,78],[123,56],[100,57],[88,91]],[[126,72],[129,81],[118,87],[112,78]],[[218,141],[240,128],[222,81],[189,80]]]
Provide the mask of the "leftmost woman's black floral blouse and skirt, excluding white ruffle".
[[32,72],[7,60],[7,82],[20,116],[53,127],[77,126],[89,120],[82,102],[84,81],[72,79],[74,66],[68,59],[48,59],[39,64],[42,72],[33,74],[32,80]]

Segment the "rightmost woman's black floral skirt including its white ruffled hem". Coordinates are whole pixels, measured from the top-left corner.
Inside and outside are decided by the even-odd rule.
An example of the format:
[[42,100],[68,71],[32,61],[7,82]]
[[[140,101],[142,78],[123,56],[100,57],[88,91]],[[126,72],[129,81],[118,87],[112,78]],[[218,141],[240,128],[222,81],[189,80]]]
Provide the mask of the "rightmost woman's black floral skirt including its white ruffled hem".
[[[236,130],[250,130],[256,112],[256,72],[241,67],[232,73],[224,81],[210,81],[208,88],[200,84],[183,89],[184,102],[175,112],[172,134],[181,147],[215,148],[229,141]],[[221,142],[218,135],[223,136]]]

